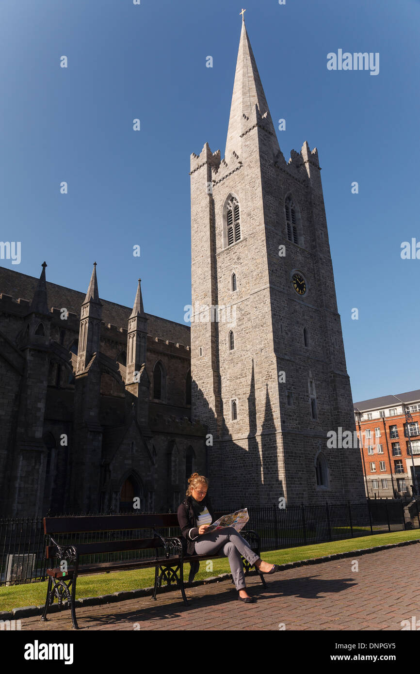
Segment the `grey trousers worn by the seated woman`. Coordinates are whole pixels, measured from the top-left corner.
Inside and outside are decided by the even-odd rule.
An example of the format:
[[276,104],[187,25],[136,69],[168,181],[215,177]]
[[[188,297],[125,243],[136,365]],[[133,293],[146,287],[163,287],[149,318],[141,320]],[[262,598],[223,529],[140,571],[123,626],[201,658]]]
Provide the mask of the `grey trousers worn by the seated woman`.
[[245,576],[243,574],[241,556],[245,557],[251,565],[260,559],[233,526],[227,526],[210,534],[203,534],[196,541],[195,547],[198,555],[206,555],[208,553],[215,555],[218,549],[220,549],[218,556],[229,558],[232,578],[237,590],[245,590]]

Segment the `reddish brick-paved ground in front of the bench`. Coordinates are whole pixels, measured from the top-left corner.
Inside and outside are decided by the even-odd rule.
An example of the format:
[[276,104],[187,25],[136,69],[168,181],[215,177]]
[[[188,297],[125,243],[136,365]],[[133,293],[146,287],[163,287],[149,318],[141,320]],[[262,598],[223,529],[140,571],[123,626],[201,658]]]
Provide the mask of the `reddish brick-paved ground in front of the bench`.
[[[185,607],[181,592],[130,599],[78,609],[83,630],[401,630],[400,622],[420,619],[420,545],[392,548],[359,560],[353,557],[288,569],[247,580],[255,604],[237,601],[231,580],[186,590],[191,605]],[[69,611],[22,619],[22,630],[70,630]],[[138,629],[138,627],[137,627]]]

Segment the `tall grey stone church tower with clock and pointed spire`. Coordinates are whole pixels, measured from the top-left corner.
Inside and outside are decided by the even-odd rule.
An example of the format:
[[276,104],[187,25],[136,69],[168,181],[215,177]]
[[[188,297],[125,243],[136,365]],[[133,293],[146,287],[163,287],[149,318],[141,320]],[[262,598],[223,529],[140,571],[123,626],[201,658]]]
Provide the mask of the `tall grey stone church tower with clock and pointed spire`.
[[[289,162],[242,24],[224,158],[191,155],[192,419],[208,426],[212,498],[363,501],[318,152]],[[210,443],[210,441],[208,441]]]

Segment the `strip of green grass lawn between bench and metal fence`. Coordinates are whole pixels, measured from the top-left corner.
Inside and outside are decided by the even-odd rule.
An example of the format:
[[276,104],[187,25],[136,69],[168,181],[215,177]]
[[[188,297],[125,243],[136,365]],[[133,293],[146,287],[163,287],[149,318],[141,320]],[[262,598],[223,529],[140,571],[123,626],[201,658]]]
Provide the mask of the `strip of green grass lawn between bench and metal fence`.
[[[374,545],[386,545],[387,543],[399,543],[400,541],[413,541],[420,539],[419,530],[397,531],[376,536],[363,536],[357,539],[344,539],[331,543],[317,543],[284,550],[272,550],[262,553],[262,559],[272,564],[285,564],[289,561],[301,559],[313,559],[324,557],[339,552],[351,552]],[[206,570],[208,566],[209,570]],[[230,573],[227,557],[210,559],[200,563],[200,571],[195,580],[203,580],[210,576]],[[184,566],[184,574],[188,580],[189,564]],[[76,598],[88,596],[100,596],[138,588],[151,587],[154,584],[154,568],[138,571],[113,572],[110,574],[98,574],[96,576],[81,576],[78,578]],[[45,601],[47,582],[26,583],[24,585],[11,585],[0,587],[0,611],[11,611],[18,607],[38,606]]]

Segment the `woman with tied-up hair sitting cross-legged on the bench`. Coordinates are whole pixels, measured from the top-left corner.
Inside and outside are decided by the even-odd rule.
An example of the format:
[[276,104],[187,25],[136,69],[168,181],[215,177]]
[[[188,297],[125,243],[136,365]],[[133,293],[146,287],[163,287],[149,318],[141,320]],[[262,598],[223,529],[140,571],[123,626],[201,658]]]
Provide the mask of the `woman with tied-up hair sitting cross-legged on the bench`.
[[214,520],[214,512],[207,490],[208,479],[194,472],[188,479],[186,498],[177,511],[179,526],[183,537],[187,540],[187,553],[189,555],[195,553],[215,555],[220,550],[219,557],[229,557],[233,582],[235,582],[235,588],[239,590],[238,599],[247,604],[253,603],[256,598],[249,596],[245,589],[241,556],[245,557],[249,564],[255,565],[263,574],[274,574],[278,570],[278,565],[262,561],[233,526],[206,534],[206,528]]

